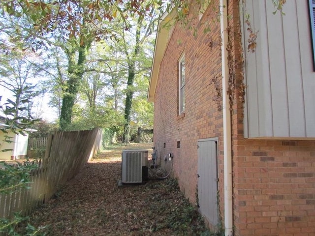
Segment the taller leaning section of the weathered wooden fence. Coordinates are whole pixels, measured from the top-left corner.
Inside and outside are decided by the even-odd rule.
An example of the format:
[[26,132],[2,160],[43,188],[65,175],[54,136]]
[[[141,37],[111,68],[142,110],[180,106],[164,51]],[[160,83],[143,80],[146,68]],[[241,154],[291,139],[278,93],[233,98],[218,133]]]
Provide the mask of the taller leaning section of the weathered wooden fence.
[[92,131],[55,132],[47,142],[43,166],[47,167],[49,199],[59,185],[74,177],[98,151],[101,129]]

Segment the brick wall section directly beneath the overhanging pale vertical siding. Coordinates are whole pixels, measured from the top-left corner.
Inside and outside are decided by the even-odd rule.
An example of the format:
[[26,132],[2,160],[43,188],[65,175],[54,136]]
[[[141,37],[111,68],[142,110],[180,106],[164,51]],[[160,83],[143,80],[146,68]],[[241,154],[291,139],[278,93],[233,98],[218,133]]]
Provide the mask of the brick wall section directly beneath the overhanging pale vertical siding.
[[233,143],[236,235],[315,235],[315,142]]

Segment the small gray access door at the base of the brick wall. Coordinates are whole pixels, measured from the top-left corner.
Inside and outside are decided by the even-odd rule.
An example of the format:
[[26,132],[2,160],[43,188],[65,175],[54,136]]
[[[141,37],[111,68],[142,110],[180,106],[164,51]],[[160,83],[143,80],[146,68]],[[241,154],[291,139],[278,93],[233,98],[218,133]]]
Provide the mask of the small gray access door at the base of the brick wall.
[[218,213],[218,139],[198,140],[198,204],[199,211],[212,226]]

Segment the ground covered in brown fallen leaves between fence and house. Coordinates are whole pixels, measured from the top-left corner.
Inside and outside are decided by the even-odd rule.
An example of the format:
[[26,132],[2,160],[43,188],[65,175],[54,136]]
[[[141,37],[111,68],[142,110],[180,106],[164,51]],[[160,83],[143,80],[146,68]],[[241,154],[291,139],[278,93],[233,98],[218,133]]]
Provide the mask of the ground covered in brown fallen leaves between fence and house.
[[209,235],[200,215],[174,179],[118,186],[123,149],[103,151],[49,203],[33,212],[30,223],[47,225],[49,236],[200,236]]

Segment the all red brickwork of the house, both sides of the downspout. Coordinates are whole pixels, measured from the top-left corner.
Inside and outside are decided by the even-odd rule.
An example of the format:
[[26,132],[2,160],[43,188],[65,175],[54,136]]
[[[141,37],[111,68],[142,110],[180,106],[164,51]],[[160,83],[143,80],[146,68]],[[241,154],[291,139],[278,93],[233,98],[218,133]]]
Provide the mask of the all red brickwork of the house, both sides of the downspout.
[[[233,225],[235,236],[315,236],[315,141],[248,140],[243,136],[242,63],[238,0],[229,0],[232,106]],[[208,15],[208,18],[207,16]],[[209,21],[208,10],[201,23]],[[154,143],[158,155],[174,153],[174,176],[196,202],[197,140],[219,139],[220,210],[223,214],[222,113],[214,101],[221,88],[220,23],[211,32],[193,21],[197,36],[176,25],[160,65],[155,93]],[[186,110],[178,115],[178,60],[185,53]],[[221,103],[221,99],[219,99]],[[177,141],[181,148],[176,148]],[[165,143],[166,147],[163,148]]]

